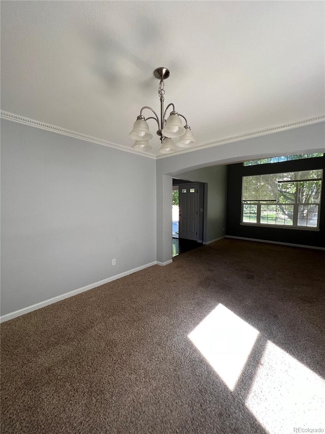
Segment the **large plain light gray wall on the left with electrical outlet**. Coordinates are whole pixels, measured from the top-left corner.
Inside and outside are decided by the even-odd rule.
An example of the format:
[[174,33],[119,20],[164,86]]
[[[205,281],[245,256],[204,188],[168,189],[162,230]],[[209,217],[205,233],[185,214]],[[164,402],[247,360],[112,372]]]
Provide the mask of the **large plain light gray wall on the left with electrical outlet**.
[[2,314],[156,261],[154,159],[6,120],[1,142]]

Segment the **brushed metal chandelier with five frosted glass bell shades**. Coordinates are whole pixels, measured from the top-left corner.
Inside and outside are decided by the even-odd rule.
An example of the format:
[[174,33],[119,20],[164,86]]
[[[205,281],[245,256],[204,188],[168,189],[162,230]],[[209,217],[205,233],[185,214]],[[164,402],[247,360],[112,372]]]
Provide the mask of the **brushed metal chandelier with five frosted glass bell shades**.
[[[170,76],[170,72],[167,68],[157,68],[153,72],[154,76],[160,79],[158,87],[158,95],[160,97],[160,121],[157,113],[148,106],[142,107],[140,114],[134,123],[133,130],[129,133],[135,143],[132,148],[139,149],[141,151],[149,151],[151,146],[149,139],[152,138],[152,134],[149,131],[147,124],[148,119],[154,119],[158,124],[157,135],[160,136],[161,147],[159,152],[162,154],[171,154],[177,151],[177,148],[189,148],[196,144],[189,125],[187,125],[186,118],[175,110],[173,103],[168,104],[164,111],[164,79],[166,80]],[[172,111],[169,114],[169,118],[166,120],[167,110],[172,107]],[[145,118],[142,114],[144,109],[149,109],[153,112],[154,117]],[[185,126],[183,126],[181,118],[185,120]],[[176,146],[173,142],[173,138],[179,138]]]

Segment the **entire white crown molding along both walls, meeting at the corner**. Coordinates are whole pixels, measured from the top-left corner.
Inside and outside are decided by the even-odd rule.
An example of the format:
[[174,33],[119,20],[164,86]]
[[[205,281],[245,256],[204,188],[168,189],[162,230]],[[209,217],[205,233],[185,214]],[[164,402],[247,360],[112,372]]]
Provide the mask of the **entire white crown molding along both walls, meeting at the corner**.
[[209,141],[207,143],[197,144],[189,149],[182,149],[173,154],[167,155],[158,155],[150,154],[144,151],[138,151],[123,144],[113,143],[108,140],[100,139],[98,137],[92,137],[87,134],[78,133],[77,131],[68,130],[66,128],[61,128],[56,125],[46,124],[44,122],[36,121],[34,119],[26,118],[24,116],[20,116],[19,114],[10,113],[9,111],[1,110],[0,118],[7,119],[10,121],[18,122],[20,124],[30,125],[32,127],[40,128],[42,130],[52,131],[54,133],[63,134],[68,137],[75,137],[81,140],[90,141],[92,143],[102,144],[103,146],[107,146],[109,148],[119,149],[120,151],[130,152],[132,154],[140,155],[142,157],[152,158],[154,160],[160,158],[173,157],[179,154],[185,154],[187,152],[199,151],[206,148],[213,148],[215,146],[219,146],[220,144],[230,143],[239,140],[245,140],[252,137],[263,136],[267,134],[277,133],[279,131],[290,130],[293,128],[303,127],[305,125],[316,124],[318,122],[325,121],[325,114],[319,114],[317,116],[313,116],[308,119],[304,119],[302,121],[291,122],[288,124],[277,125],[275,127],[264,128],[262,130],[250,131],[243,134],[239,134],[236,136],[225,137],[218,140]]

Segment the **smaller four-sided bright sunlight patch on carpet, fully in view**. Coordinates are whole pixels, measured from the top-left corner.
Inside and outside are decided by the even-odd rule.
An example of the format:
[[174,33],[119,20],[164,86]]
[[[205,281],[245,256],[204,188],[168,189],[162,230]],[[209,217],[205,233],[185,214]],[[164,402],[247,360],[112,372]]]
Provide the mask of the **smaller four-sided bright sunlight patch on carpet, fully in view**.
[[229,389],[234,390],[258,333],[220,303],[188,338]]

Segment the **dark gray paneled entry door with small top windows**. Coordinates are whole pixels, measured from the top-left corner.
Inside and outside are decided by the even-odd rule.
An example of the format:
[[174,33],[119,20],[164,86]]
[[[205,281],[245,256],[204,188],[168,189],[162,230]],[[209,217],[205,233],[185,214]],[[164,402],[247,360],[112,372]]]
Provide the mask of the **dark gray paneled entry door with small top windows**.
[[179,185],[179,238],[198,239],[198,184]]

